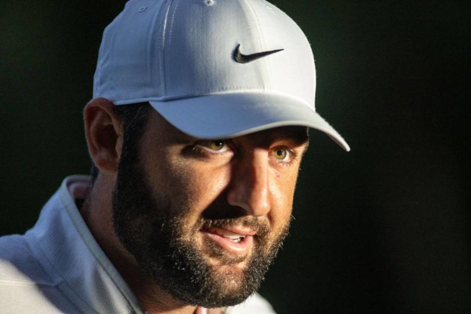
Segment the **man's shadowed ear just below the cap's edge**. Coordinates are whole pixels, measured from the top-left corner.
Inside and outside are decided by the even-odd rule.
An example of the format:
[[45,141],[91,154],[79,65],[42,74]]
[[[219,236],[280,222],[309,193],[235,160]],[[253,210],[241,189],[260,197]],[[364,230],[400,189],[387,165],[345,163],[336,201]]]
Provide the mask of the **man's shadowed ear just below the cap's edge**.
[[113,106],[105,98],[96,98],[83,110],[88,152],[97,168],[109,174],[118,168],[123,138],[121,121]]

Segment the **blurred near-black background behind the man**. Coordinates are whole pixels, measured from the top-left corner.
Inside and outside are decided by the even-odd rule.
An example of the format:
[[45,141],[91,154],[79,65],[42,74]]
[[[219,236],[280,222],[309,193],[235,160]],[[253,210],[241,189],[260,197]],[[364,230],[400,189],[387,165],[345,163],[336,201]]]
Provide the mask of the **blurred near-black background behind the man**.
[[[88,173],[81,111],[125,1],[2,1],[0,234]],[[290,237],[261,293],[279,313],[471,313],[468,1],[274,1],[303,28],[316,106]]]

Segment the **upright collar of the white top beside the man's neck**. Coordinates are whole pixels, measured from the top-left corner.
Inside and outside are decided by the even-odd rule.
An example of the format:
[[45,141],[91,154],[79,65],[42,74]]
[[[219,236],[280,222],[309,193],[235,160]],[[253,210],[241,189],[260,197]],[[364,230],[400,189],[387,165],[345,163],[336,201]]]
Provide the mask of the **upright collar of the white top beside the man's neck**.
[[26,236],[57,287],[82,312],[144,314],[131,288],[90,233],[70,193],[79,193],[89,180],[87,176],[67,177]]

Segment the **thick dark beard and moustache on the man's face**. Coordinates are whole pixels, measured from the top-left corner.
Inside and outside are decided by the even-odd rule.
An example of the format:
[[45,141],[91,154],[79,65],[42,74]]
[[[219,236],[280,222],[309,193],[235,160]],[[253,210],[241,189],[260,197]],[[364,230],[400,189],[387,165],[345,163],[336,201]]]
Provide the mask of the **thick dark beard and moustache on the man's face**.
[[[288,234],[289,221],[279,232],[271,232],[265,220],[253,216],[200,217],[191,222],[191,196],[178,190],[172,195],[152,193],[139,154],[130,152],[136,150],[126,150],[118,167],[112,196],[113,226],[146,280],[175,300],[206,308],[233,306],[257,291]],[[223,206],[230,207],[227,203]],[[192,239],[202,229],[232,225],[257,232],[252,252],[234,257],[208,240],[205,243],[211,258],[222,265],[234,265],[218,271]],[[245,262],[241,269],[235,267],[239,262]]]

